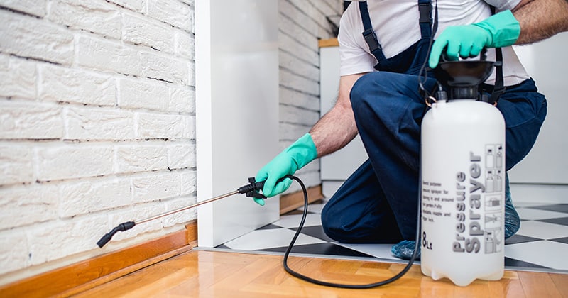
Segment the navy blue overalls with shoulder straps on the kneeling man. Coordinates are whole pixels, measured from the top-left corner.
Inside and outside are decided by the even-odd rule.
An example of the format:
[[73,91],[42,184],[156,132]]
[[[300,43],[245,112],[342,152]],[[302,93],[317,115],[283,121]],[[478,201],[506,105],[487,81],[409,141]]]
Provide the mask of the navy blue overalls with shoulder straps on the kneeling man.
[[[386,59],[381,46],[374,46],[366,39],[378,60],[375,67],[378,72],[359,78],[350,96],[369,159],[324,206],[322,226],[334,240],[345,243],[415,240],[420,123],[426,109],[417,75],[428,58],[432,35],[431,2],[419,0],[418,7],[422,38],[402,53]],[[368,38],[368,28],[373,29],[366,2],[359,2],[359,8]],[[424,86],[432,90],[436,81],[429,77]],[[480,89],[492,92],[490,85]],[[497,108],[506,121],[506,170],[510,170],[535,143],[547,104],[545,96],[537,92],[535,82],[527,79],[507,87]]]

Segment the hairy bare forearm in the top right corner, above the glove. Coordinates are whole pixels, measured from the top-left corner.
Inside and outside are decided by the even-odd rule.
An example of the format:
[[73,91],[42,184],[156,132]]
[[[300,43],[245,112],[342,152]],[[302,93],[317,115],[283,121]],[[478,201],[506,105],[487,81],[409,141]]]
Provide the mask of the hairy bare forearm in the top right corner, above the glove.
[[518,45],[568,31],[567,0],[521,0],[512,12],[520,23]]

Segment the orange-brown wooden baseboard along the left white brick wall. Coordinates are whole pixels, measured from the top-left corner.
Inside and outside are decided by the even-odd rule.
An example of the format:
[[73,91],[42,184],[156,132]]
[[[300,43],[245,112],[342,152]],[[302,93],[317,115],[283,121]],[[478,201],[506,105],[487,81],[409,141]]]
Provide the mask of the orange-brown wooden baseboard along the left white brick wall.
[[0,297],[66,297],[192,249],[197,221],[185,230],[0,287]]

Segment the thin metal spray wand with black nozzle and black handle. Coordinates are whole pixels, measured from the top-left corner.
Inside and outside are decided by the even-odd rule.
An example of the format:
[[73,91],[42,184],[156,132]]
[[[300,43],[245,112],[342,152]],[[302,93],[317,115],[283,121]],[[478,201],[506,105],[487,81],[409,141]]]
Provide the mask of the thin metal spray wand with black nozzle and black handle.
[[[283,177],[280,180],[284,180],[285,178],[287,178],[287,177]],[[280,181],[280,180],[278,180],[278,181]],[[234,192],[222,194],[220,196],[213,197],[211,199],[206,199],[204,201],[197,202],[197,203],[192,204],[190,206],[185,206],[185,207],[182,207],[180,209],[175,209],[175,210],[172,210],[172,211],[165,212],[163,214],[158,214],[156,216],[148,217],[147,219],[142,219],[140,221],[126,221],[124,223],[121,223],[118,226],[114,227],[109,233],[104,234],[104,236],[102,236],[101,240],[97,241],[97,245],[99,245],[99,248],[102,248],[104,245],[109,243],[109,241],[111,241],[111,238],[112,238],[112,236],[114,236],[114,234],[116,234],[118,232],[128,231],[138,224],[146,223],[148,221],[153,221],[155,219],[160,219],[164,216],[168,216],[168,215],[175,214],[175,213],[178,213],[178,212],[181,212],[181,211],[185,211],[187,209],[192,209],[192,208],[195,208],[195,207],[200,206],[202,204],[207,204],[207,203],[210,203],[210,202],[217,201],[218,199],[231,197],[234,194],[246,194],[246,197],[266,199],[266,197],[263,196],[263,194],[258,192],[263,187],[264,187],[264,181],[256,182],[254,177],[249,177],[249,184],[246,184],[242,187],[239,187],[239,189],[236,189]]]

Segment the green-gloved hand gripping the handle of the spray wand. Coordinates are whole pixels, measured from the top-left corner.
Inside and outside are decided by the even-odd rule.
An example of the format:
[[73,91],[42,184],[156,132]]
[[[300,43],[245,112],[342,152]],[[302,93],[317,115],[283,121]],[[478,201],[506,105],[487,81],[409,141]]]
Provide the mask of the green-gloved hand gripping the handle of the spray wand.
[[[268,162],[261,170],[256,173],[256,181],[264,181],[262,193],[266,197],[274,197],[277,194],[285,192],[292,180],[285,179],[277,182],[285,175],[293,175],[297,170],[310,163],[317,158],[317,150],[310,133],[306,133],[284,149],[280,154],[276,155],[271,162]],[[254,202],[264,206],[263,199],[254,198]]]

